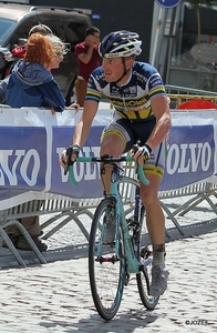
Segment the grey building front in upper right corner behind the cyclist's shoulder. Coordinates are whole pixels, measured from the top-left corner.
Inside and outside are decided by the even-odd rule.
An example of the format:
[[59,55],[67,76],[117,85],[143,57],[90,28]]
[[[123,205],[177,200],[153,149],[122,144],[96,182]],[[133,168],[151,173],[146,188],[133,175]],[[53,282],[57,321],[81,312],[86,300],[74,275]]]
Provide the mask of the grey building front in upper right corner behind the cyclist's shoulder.
[[152,31],[151,62],[167,84],[216,91],[217,6],[202,7],[199,18],[200,36],[197,13],[188,2],[169,10],[155,4],[153,27],[161,20],[161,28],[157,34]]

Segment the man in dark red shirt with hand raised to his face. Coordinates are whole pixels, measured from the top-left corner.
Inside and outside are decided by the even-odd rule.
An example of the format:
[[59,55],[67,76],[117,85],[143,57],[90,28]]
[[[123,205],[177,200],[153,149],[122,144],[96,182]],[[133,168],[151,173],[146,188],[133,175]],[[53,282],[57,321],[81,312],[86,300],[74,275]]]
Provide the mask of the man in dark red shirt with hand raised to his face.
[[75,46],[74,52],[79,64],[75,94],[80,107],[84,105],[89,77],[100,65],[99,44],[100,30],[91,27],[86,29],[85,40]]

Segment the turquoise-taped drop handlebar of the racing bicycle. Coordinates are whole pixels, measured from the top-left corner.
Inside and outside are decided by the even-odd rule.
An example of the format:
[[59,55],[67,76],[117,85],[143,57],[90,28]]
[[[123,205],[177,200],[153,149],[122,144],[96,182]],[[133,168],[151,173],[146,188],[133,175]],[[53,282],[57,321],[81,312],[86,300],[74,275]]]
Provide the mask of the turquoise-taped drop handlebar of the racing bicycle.
[[[113,164],[113,163],[118,163],[118,162],[135,162],[135,160],[130,157],[110,157],[110,155],[102,155],[102,157],[78,157],[76,162],[101,162],[101,163],[106,163],[106,164]],[[78,185],[78,182],[75,181],[74,178],[74,172],[73,172],[73,164],[69,165],[69,176],[70,176],[70,181],[73,185]],[[149,181],[146,179],[144,171],[143,171],[143,167],[138,165],[138,178],[142,181],[142,183],[144,183],[145,185],[149,184]]]

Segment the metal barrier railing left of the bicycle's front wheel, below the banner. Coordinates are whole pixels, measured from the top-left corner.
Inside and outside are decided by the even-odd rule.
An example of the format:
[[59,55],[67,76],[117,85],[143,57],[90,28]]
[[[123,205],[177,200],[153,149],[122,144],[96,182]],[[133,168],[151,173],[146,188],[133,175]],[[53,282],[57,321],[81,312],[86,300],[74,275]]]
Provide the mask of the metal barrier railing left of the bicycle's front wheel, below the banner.
[[[71,198],[64,196],[53,196],[52,199],[39,201],[33,200],[30,202],[25,202],[18,206],[13,206],[11,209],[0,211],[0,235],[2,236],[3,241],[7,243],[8,248],[10,249],[11,253],[14,255],[18,263],[22,266],[25,266],[24,261],[22,260],[20,253],[12,244],[11,240],[9,239],[8,234],[4,231],[4,228],[9,225],[17,226],[20,232],[23,234],[28,243],[30,244],[31,249],[35,253],[40,263],[45,263],[45,260],[39,249],[35,246],[33,240],[23,228],[23,225],[18,221],[18,219],[29,218],[34,215],[44,215],[44,214],[53,214],[52,218],[48,219],[44,223],[41,224],[41,230],[43,231],[45,228],[50,226],[52,223],[56,222],[58,220],[62,220],[58,225],[51,229],[49,232],[44,232],[43,239],[50,238],[58,230],[64,226],[70,221],[74,221],[78,226],[80,228],[81,232],[84,234],[86,240],[89,241],[89,231],[83,225],[80,215],[86,214],[90,218],[93,218],[93,213],[90,209],[94,209],[100,199],[96,200],[81,200],[79,202],[73,202]],[[58,213],[56,215],[54,215]]]

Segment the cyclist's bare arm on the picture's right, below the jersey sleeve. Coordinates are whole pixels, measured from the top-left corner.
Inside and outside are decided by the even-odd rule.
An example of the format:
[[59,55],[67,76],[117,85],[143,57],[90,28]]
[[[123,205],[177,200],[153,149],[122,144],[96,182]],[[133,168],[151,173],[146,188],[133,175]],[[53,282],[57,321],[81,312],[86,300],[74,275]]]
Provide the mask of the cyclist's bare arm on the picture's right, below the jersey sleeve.
[[151,99],[151,105],[156,124],[145,143],[154,150],[166,138],[172,125],[169,98],[167,95],[154,97]]

